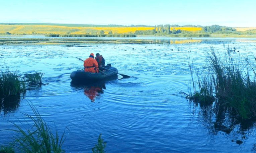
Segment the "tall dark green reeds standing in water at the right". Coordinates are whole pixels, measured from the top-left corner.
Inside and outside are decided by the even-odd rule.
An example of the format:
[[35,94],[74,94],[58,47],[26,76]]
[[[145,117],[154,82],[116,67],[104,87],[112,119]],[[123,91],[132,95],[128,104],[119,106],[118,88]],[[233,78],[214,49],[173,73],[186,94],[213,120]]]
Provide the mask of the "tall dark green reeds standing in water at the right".
[[[255,67],[248,58],[241,62],[240,58],[233,59],[231,54],[224,60],[220,57],[211,47],[207,56],[207,69],[203,75],[199,71],[193,71],[192,64],[189,63],[193,92],[190,91],[187,98],[200,105],[215,102],[217,110],[221,108],[222,111],[230,111],[241,119],[256,117]],[[254,78],[251,78],[252,72]]]

